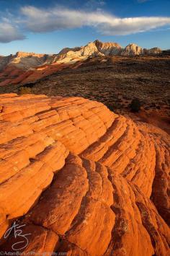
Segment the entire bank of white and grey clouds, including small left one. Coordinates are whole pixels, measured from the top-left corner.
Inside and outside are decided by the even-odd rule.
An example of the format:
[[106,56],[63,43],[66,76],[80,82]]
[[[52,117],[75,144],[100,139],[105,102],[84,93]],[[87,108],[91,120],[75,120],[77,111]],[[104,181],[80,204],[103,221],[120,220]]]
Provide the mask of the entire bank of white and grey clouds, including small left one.
[[24,39],[16,25],[24,27],[26,32],[35,33],[89,26],[102,35],[130,35],[170,25],[170,17],[120,18],[101,10],[85,12],[60,7],[38,9],[35,6],[23,6],[20,15],[12,24],[0,22],[1,43]]

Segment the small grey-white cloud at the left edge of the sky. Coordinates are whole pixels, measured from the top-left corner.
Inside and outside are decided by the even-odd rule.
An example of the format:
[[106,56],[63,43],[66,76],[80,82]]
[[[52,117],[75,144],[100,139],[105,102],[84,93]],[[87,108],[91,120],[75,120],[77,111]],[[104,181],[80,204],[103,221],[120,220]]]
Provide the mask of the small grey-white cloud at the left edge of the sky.
[[0,43],[9,43],[14,40],[23,40],[25,37],[22,35],[17,27],[10,24],[8,19],[3,19],[0,22]]

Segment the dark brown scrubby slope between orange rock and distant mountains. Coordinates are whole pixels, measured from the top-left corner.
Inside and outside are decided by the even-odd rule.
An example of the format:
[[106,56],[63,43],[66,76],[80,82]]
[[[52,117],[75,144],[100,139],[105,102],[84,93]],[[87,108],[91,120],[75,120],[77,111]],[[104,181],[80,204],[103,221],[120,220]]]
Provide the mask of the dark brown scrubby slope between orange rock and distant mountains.
[[[170,105],[169,57],[108,56],[107,64],[101,63],[101,58],[91,58],[76,69],[68,67],[36,82],[0,87],[0,92],[86,97],[122,114],[130,110],[130,103],[137,97],[144,110],[158,112],[157,106],[160,106],[160,112],[169,116],[169,109],[166,108]],[[135,65],[128,66],[131,62]],[[20,92],[19,87],[31,89],[20,89]]]

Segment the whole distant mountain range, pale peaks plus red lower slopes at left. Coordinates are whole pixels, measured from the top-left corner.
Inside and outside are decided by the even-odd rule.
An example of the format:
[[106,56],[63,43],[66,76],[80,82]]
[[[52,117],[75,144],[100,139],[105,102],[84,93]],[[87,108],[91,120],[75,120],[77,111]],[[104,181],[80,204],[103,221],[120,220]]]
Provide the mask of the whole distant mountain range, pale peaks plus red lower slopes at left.
[[[161,53],[160,48],[141,48],[129,44],[122,48],[118,43],[102,43],[99,40],[76,48],[63,48],[60,53],[48,55],[17,52],[15,55],[0,56],[0,86],[35,81],[38,77],[53,74],[79,61],[97,56],[139,56]],[[34,77],[35,76],[35,77]]]

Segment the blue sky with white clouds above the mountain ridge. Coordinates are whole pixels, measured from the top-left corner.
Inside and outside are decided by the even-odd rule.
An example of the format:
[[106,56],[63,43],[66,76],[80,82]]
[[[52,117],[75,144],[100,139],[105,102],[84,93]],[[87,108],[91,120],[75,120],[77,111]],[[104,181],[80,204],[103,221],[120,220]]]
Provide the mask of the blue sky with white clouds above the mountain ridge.
[[58,53],[96,39],[170,48],[170,1],[0,0],[0,55]]

